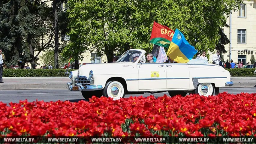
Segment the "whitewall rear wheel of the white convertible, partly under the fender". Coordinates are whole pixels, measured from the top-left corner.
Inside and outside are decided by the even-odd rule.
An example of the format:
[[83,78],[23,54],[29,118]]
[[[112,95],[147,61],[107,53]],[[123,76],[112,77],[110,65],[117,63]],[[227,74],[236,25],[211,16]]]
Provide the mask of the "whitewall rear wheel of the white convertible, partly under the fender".
[[214,86],[211,83],[200,83],[195,90],[196,94],[208,97],[213,95]]

